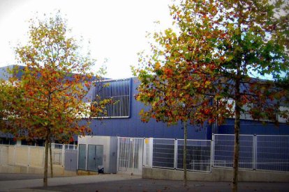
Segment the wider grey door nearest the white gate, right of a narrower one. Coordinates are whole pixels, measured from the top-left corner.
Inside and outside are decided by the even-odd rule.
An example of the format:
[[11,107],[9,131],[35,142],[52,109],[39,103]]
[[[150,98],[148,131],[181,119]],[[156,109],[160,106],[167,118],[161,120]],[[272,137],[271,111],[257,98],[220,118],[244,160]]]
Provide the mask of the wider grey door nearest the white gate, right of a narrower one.
[[103,166],[103,145],[88,145],[87,170],[98,171]]

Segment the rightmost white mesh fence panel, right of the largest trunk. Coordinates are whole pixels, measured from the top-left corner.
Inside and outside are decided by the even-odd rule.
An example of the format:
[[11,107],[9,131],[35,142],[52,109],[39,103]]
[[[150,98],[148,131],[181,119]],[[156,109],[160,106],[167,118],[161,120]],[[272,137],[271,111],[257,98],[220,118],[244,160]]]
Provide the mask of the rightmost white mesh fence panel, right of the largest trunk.
[[289,171],[289,136],[256,136],[256,169]]

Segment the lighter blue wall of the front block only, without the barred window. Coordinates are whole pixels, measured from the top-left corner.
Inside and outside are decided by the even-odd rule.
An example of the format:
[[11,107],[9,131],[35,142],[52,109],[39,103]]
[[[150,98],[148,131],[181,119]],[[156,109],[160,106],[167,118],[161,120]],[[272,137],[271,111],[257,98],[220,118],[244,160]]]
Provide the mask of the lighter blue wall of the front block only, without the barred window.
[[[133,97],[137,94],[138,80],[132,78],[131,81],[131,116],[130,118],[105,118],[93,119],[91,129],[93,135],[96,136],[125,136],[125,137],[154,137],[154,138],[184,138],[183,125],[179,122],[177,125],[168,127],[163,122],[156,122],[151,119],[149,122],[141,122],[141,109],[146,106],[138,102]],[[88,98],[91,98],[91,91]],[[211,126],[204,125],[203,127],[188,126],[188,138],[190,139],[210,139]]]

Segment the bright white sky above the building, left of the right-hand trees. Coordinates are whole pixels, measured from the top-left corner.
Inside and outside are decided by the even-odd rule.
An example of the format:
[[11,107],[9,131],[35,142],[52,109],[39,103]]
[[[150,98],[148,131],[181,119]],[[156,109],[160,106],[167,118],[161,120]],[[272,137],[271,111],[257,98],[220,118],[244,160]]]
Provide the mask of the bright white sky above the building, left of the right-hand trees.
[[27,43],[30,18],[60,10],[68,19],[72,35],[90,41],[91,58],[97,60],[93,70],[106,63],[105,77],[133,77],[130,66],[138,65],[138,52],[149,49],[147,31],[171,26],[170,3],[170,0],[0,0],[0,67],[16,63],[13,47],[19,42]]

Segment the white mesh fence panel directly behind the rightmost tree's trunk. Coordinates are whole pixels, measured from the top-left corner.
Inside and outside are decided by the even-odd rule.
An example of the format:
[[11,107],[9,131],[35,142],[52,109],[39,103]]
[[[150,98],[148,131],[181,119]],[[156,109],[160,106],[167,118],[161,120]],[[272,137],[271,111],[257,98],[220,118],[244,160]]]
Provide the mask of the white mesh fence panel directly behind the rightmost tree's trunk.
[[[234,135],[214,134],[214,166],[232,167],[234,158]],[[239,168],[253,169],[253,135],[239,136]]]

